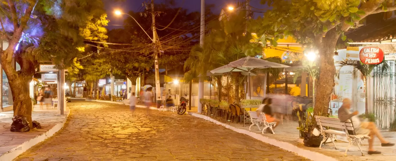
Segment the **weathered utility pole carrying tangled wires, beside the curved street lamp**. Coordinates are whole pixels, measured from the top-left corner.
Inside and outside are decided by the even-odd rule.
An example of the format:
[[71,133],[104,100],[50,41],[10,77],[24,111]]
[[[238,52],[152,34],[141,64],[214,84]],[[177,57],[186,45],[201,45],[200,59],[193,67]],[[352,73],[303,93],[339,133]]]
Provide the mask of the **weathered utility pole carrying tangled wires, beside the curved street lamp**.
[[151,0],[151,18],[152,18],[152,43],[154,48],[154,68],[155,68],[155,90],[156,90],[156,100],[161,97],[161,87],[160,87],[160,73],[158,71],[158,52],[156,47],[157,42],[157,31],[155,28],[155,11],[154,11],[154,0]]

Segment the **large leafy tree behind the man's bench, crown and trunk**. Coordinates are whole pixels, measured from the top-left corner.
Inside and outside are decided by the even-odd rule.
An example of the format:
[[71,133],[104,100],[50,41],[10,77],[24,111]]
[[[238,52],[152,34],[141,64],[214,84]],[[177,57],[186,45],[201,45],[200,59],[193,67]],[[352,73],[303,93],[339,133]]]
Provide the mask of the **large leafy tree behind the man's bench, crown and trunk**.
[[367,15],[392,11],[390,0],[261,0],[272,7],[263,18],[253,21],[251,32],[263,43],[276,45],[284,36],[318,51],[319,78],[315,97],[315,114],[325,114],[334,86],[334,51],[337,41],[345,41],[344,32],[357,27]]

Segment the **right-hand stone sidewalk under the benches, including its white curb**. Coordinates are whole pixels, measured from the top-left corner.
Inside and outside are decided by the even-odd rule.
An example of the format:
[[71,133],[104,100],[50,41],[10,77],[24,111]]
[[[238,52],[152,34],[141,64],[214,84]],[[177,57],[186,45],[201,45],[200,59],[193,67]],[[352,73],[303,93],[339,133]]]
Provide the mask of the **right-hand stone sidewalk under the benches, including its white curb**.
[[[225,125],[226,128],[235,128],[236,130],[234,131],[249,131],[249,125],[246,125],[245,127],[243,124],[236,124],[233,122],[221,122],[219,118],[215,120],[214,117],[205,117],[204,115],[196,112],[188,112],[188,114],[192,116],[196,116],[199,118],[206,119],[210,122],[214,122],[216,124],[222,124],[223,126]],[[276,140],[273,142],[267,142],[268,144],[272,144],[274,146],[278,146],[280,148],[284,148],[282,146],[285,146],[283,143],[288,143],[288,146],[285,146],[285,150],[295,152],[298,155],[302,155],[303,157],[307,157],[308,159],[312,160],[318,160],[318,161],[323,161],[324,158],[311,158],[309,156],[306,156],[304,153],[299,153],[300,150],[309,150],[311,152],[315,152],[317,154],[323,154],[328,157],[331,157],[333,159],[339,160],[339,161],[390,161],[390,160],[395,160],[396,159],[396,146],[392,147],[381,147],[381,142],[376,138],[374,140],[375,142],[375,149],[379,150],[382,152],[380,155],[368,155],[367,154],[367,149],[368,149],[368,142],[367,139],[363,141],[363,146],[362,150],[364,151],[363,153],[365,156],[362,156],[358,147],[356,145],[352,145],[349,150],[348,150],[348,156],[344,156],[346,147],[348,146],[348,141],[346,140],[345,137],[340,137],[337,136],[337,142],[336,146],[337,149],[334,148],[333,143],[329,142],[326,143],[322,146],[322,150],[319,150],[319,148],[310,148],[306,147],[303,144],[297,142],[297,138],[299,137],[299,131],[296,129],[298,127],[298,123],[294,121],[286,122],[284,120],[283,125],[279,125],[276,127],[274,130],[275,134],[269,134],[269,133],[264,133],[261,134],[261,131],[258,130],[257,126],[252,126],[250,132],[254,132],[255,134],[259,134],[261,136],[264,136],[266,139],[269,140]],[[383,136],[386,138],[386,140],[389,140],[390,142],[396,142],[396,132],[390,132],[390,131],[385,131],[382,130],[381,133]],[[252,137],[261,140],[257,135],[251,135]],[[255,137],[256,136],[256,137]],[[292,147],[294,146],[294,147]],[[293,150],[297,147],[300,150]],[[312,154],[310,154],[312,155]]]

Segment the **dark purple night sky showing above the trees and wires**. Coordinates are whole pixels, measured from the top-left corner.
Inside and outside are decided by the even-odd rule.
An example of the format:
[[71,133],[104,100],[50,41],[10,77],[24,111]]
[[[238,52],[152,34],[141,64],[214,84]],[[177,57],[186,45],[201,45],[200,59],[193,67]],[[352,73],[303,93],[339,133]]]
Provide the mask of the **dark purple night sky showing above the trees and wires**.
[[[120,2],[113,2],[113,0],[103,0],[105,4],[105,9],[107,11],[107,19],[110,20],[109,28],[110,30],[113,28],[122,28],[123,26],[113,26],[115,25],[122,25],[123,20],[126,18],[126,15],[122,17],[118,17],[114,15],[115,9],[120,9],[124,12],[128,11],[143,11],[142,2],[145,0],[124,0]],[[155,3],[162,3],[166,0],[154,0]],[[187,9],[188,11],[200,11],[201,7],[201,0],[184,0],[183,8]],[[205,0],[206,4],[215,4],[213,8],[213,13],[219,14],[222,8],[225,8],[229,5],[236,4],[237,2],[244,2],[244,0]],[[250,0],[250,6],[259,9],[265,9],[266,6],[260,4],[261,0]],[[146,0],[146,2],[150,2],[150,0]],[[183,4],[183,0],[175,0],[177,3],[177,7],[180,7]],[[263,15],[263,13],[254,13],[255,17]]]

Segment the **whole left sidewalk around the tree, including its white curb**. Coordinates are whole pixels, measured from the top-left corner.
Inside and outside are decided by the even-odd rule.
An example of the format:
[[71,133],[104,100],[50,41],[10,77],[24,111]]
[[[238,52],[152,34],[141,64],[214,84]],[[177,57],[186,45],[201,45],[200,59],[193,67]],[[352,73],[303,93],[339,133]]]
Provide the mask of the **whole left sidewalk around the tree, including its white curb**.
[[[44,107],[45,108],[45,107]],[[69,111],[64,115],[56,109],[40,110],[34,106],[32,120],[41,124],[42,129],[30,129],[29,132],[11,132],[12,116],[0,116],[0,161],[10,161],[30,147],[51,137],[66,122]]]

